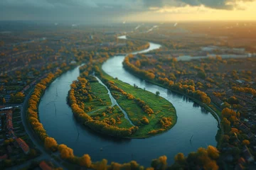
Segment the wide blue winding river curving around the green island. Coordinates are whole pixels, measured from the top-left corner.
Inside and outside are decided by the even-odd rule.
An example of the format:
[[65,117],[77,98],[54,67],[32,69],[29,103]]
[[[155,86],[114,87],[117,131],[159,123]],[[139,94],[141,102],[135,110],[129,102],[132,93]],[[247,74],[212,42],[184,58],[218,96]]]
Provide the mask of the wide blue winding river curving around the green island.
[[[159,47],[160,45],[150,43],[149,49],[141,52]],[[78,156],[90,154],[93,161],[104,158],[109,163],[136,160],[143,166],[150,166],[151,159],[162,155],[166,155],[171,164],[178,152],[188,154],[196,151],[198,147],[217,144],[215,135],[218,131],[218,122],[213,115],[185,96],[146,83],[129,74],[122,67],[123,60],[124,56],[111,57],[102,65],[102,69],[110,76],[117,77],[128,84],[136,84],[152,93],[160,91],[160,96],[166,98],[176,108],[178,120],[174,128],[147,139],[120,140],[99,135],[80,125],[66,103],[70,84],[79,76],[79,67],[76,67],[55,79],[41,98],[39,117],[50,137],[54,137],[59,144],[68,145]],[[190,142],[192,135],[193,140]]]

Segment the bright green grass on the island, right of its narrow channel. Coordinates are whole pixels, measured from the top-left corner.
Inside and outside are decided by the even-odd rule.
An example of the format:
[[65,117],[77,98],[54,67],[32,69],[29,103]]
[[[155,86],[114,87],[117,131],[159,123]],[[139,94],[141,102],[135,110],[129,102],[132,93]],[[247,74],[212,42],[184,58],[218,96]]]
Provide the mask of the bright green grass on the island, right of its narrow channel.
[[[134,100],[128,100],[127,96],[122,95],[119,91],[111,90],[114,98],[117,100],[117,103],[119,103],[119,106],[121,106],[124,111],[127,112],[127,115],[129,116],[129,119],[132,120],[132,123],[139,126],[139,130],[134,133],[132,137],[150,137],[155,135],[149,134],[149,132],[151,130],[162,129],[161,124],[159,123],[161,118],[171,118],[171,126],[159,132],[169,130],[176,124],[176,110],[174,106],[165,98],[156,96],[156,94],[152,94],[149,91],[144,91],[144,89],[135,88],[134,86],[119,81],[118,79],[113,79],[103,71],[102,74],[105,79],[113,81],[114,85],[118,86],[119,89],[122,89],[127,94],[132,94],[135,98],[140,98],[154,111],[154,114],[148,115],[147,113],[144,113],[142,108]],[[141,122],[142,118],[144,117],[149,120],[148,125]]]

